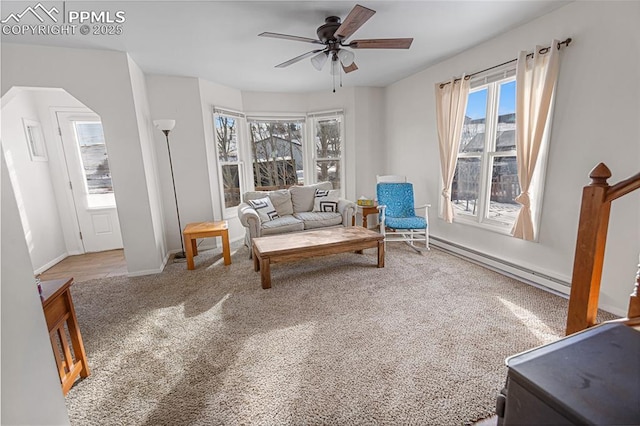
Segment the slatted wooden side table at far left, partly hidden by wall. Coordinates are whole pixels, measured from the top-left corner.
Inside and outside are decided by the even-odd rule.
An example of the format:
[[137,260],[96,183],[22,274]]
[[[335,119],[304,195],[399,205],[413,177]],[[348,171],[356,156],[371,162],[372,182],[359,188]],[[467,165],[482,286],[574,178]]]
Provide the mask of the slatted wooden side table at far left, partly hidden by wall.
[[[91,374],[78,327],[76,311],[71,299],[71,284],[73,284],[73,278],[40,283],[42,286],[42,294],[40,295],[42,309],[47,321],[51,347],[58,366],[64,395],[69,392],[78,376],[84,378]],[[68,334],[65,331],[65,324]],[[69,347],[69,341],[71,341],[73,354]]]

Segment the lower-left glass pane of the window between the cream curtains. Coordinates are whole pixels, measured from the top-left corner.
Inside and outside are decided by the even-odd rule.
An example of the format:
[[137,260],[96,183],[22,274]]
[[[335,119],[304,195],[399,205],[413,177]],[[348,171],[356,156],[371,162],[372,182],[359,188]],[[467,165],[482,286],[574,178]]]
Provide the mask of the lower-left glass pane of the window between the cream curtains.
[[476,216],[480,188],[480,157],[458,158],[451,187],[454,213]]

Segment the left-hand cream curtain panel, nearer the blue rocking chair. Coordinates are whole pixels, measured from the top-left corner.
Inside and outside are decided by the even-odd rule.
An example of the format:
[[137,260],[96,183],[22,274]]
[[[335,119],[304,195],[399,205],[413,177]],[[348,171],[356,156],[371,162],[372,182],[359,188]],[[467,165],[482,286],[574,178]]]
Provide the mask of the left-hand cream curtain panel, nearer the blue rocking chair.
[[456,171],[460,134],[464,124],[469,96],[469,80],[452,79],[448,84],[436,84],[436,120],[438,125],[438,141],[440,144],[440,169],[444,190],[443,218],[453,222],[453,206],[451,205],[451,184]]

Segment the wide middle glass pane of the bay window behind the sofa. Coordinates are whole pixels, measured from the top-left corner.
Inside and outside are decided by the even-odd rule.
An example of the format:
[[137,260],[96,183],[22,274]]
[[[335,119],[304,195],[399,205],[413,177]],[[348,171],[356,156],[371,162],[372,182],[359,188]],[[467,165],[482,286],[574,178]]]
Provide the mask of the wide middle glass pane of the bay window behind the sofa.
[[303,179],[300,122],[253,121],[249,124],[256,190],[288,188]]

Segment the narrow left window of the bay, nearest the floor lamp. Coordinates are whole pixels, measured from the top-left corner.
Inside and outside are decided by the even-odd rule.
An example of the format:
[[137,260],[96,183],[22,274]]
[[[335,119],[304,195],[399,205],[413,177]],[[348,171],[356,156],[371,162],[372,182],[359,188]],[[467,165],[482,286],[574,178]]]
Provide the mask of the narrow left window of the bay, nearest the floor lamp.
[[245,191],[239,141],[244,119],[231,114],[220,110],[214,113],[218,181],[224,198],[225,217],[235,214],[235,207],[240,204],[242,192]]

